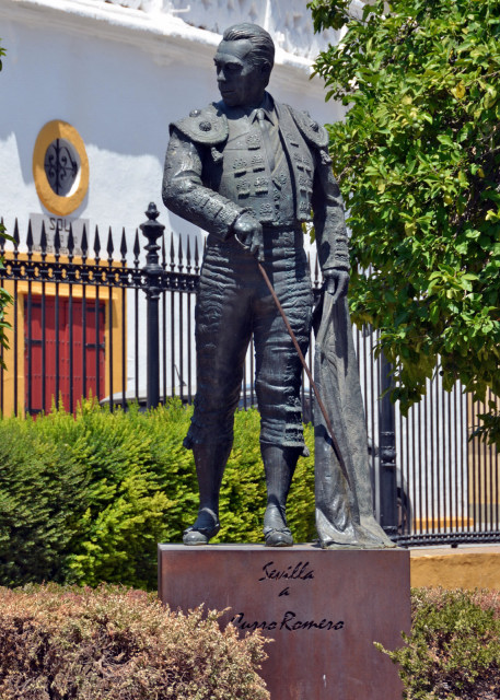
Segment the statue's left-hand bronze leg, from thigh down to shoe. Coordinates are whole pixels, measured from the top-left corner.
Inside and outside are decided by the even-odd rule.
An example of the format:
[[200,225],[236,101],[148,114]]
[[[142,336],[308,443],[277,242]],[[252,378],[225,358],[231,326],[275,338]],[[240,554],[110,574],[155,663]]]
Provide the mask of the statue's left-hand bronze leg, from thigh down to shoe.
[[195,316],[197,394],[184,441],[195,456],[199,511],[184,533],[185,545],[206,545],[220,528],[219,492],[233,444],[234,411],[252,334],[244,280],[244,266],[237,256],[232,259],[231,250],[207,253]]

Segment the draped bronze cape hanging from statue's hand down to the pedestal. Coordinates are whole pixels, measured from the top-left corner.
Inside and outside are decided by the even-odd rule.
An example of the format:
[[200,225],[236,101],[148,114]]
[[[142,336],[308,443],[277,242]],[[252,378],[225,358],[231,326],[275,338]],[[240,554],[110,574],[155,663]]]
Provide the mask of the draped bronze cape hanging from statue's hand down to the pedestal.
[[364,408],[344,296],[324,292],[315,310],[314,381],[325,404],[347,472],[333,448],[325,420],[314,407],[316,529],[327,549],[395,547],[373,515]]

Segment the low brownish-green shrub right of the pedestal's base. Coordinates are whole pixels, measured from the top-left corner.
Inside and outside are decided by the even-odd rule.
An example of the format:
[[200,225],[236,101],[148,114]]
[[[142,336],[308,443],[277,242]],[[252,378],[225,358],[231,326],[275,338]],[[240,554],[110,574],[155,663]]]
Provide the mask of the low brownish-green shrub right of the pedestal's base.
[[500,592],[415,588],[411,635],[394,652],[408,700],[498,700]]

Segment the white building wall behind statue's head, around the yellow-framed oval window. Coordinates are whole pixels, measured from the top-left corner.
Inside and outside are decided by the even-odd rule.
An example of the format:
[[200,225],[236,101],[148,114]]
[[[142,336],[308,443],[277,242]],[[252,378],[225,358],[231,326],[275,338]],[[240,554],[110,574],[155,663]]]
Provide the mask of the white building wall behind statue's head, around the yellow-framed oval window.
[[[71,4],[79,5],[63,7]],[[125,226],[131,236],[154,200],[167,228],[191,231],[161,203],[167,125],[219,98],[211,57],[220,37],[204,32],[207,42],[199,42],[179,20],[175,36],[130,28],[116,14],[129,20],[139,11],[107,7],[115,11],[113,26],[47,7],[23,13],[13,0],[0,0],[8,50],[0,73],[0,215],[9,228],[14,217],[23,228],[28,214],[45,211],[33,180],[33,148],[47,121],[62,119],[80,132],[90,162],[89,194],[74,217],[91,228]],[[323,85],[309,80],[304,61],[277,65],[269,90],[321,121],[340,116],[324,104]]]

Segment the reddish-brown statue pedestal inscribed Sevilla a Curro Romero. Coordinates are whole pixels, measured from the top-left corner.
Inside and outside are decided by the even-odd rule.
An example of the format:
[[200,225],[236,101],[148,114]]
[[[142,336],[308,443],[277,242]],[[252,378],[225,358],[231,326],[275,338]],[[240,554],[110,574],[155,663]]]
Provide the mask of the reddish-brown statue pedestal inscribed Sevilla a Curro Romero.
[[174,610],[201,603],[275,640],[261,675],[271,700],[399,700],[396,666],[375,649],[410,631],[409,552],[314,545],[159,546],[159,594]]

